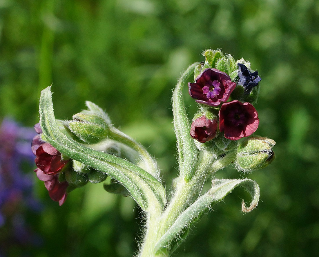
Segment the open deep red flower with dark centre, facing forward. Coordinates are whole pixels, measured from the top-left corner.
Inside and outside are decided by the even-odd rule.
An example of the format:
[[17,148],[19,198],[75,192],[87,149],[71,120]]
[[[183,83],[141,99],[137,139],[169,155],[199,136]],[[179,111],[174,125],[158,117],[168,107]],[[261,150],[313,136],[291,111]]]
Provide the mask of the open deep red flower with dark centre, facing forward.
[[219,110],[219,130],[225,132],[227,139],[238,140],[250,136],[258,125],[258,113],[252,104],[234,100],[222,104]]

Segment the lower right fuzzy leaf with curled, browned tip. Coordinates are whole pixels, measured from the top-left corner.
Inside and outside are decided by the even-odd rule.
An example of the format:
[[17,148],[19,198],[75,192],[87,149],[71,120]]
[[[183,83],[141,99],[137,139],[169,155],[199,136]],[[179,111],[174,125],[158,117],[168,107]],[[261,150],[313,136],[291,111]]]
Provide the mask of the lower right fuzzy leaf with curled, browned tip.
[[193,225],[201,215],[210,208],[211,204],[222,200],[237,186],[243,187],[251,195],[252,201],[247,207],[243,201],[241,210],[243,212],[252,211],[256,208],[259,201],[259,186],[250,179],[215,179],[212,181],[212,187],[204,195],[191,204],[176,219],[174,224],[159,239],[155,249],[156,252],[166,252],[167,249],[174,249],[174,242],[184,239],[188,235],[191,225]]

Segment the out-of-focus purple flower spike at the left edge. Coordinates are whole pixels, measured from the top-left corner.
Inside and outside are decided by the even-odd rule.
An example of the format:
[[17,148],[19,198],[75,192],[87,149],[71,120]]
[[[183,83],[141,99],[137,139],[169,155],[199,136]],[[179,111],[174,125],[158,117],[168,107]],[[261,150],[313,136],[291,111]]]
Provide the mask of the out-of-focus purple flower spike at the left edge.
[[33,243],[34,234],[24,222],[23,211],[40,211],[41,205],[33,196],[33,174],[24,173],[23,167],[29,170],[34,165],[30,149],[34,134],[33,128],[20,127],[7,118],[0,125],[0,227],[7,227],[8,232],[8,240],[0,242],[4,251],[14,242]]

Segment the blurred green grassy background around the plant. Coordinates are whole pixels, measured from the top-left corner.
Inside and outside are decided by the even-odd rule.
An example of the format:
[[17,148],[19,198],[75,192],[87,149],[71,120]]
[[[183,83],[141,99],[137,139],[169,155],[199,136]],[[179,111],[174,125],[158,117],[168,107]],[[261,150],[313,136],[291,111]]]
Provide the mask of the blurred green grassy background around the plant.
[[[260,185],[258,208],[241,213],[247,196],[234,190],[174,256],[316,256],[318,17],[316,0],[0,0],[0,120],[33,126],[40,90],[53,83],[56,118],[71,118],[85,100],[100,105],[156,156],[169,189],[177,77],[203,61],[206,48],[249,59],[262,77],[255,134],[277,142],[276,160],[247,175]],[[195,103],[186,105],[192,115]],[[226,169],[217,176],[245,175]],[[43,209],[25,217],[41,242],[11,242],[7,256],[126,257],[137,250],[143,220],[130,197],[90,184],[59,207],[35,174],[34,182]]]

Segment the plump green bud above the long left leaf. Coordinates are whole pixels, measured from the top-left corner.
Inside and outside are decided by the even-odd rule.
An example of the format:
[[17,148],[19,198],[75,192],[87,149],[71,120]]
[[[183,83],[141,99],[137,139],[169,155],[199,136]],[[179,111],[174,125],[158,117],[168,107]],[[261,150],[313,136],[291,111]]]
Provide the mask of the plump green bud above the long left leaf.
[[67,128],[73,133],[73,139],[84,144],[97,144],[108,135],[108,125],[99,115],[79,112],[73,120],[67,122]]

